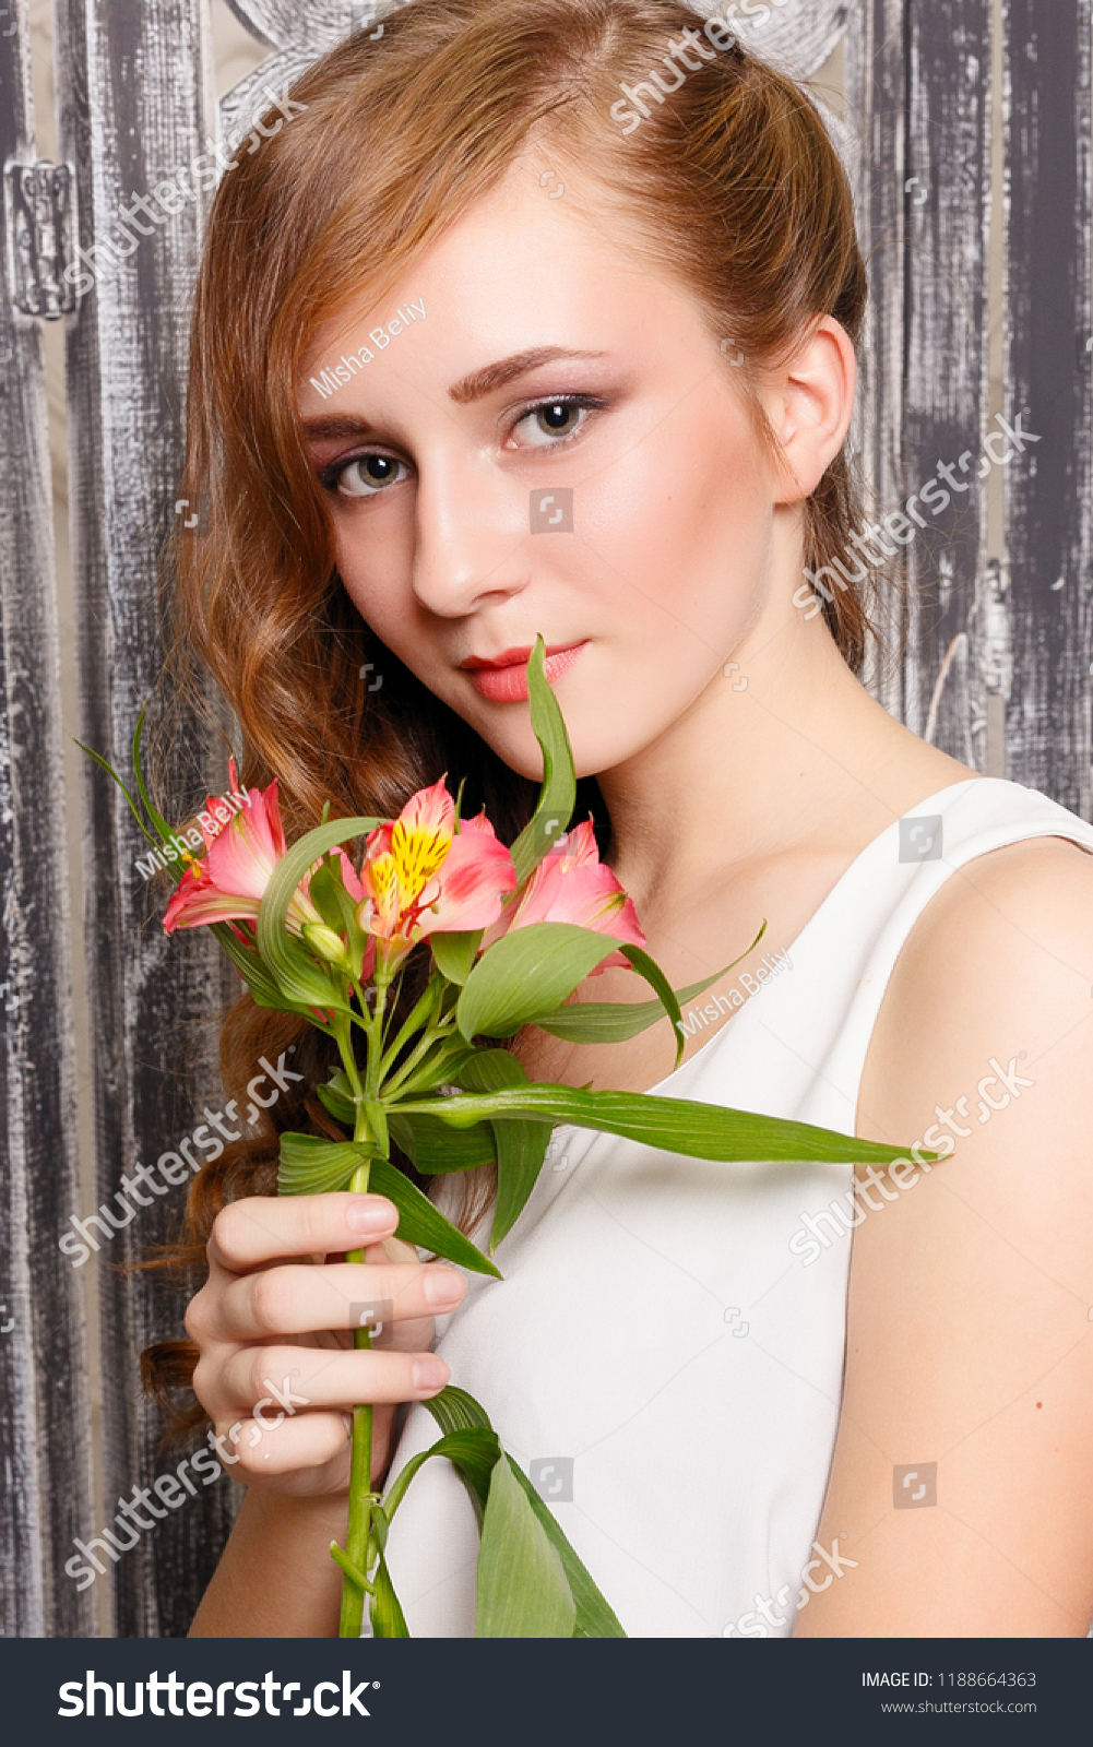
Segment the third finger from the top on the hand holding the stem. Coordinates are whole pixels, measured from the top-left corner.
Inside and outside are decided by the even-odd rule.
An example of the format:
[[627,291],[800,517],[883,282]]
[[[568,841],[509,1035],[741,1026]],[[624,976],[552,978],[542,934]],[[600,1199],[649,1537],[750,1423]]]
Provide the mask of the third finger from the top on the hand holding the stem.
[[354,1403],[428,1401],[450,1371],[435,1352],[372,1352],[318,1347],[244,1347],[222,1359],[201,1401],[215,1420],[246,1415],[272,1426],[307,1408],[347,1410]]

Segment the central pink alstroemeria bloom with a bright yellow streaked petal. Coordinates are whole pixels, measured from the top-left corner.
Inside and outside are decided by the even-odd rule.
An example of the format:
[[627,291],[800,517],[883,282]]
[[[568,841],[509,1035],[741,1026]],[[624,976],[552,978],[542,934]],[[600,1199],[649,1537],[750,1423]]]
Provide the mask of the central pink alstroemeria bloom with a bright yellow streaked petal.
[[485,809],[463,819],[456,837],[456,802],[442,777],[370,833],[356,919],[393,966],[426,935],[489,928],[515,884],[512,856]]

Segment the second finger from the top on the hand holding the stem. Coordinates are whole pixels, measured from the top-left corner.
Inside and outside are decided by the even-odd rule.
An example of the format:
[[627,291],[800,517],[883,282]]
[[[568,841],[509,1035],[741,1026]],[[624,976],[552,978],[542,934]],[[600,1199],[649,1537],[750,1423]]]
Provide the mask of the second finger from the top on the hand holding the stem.
[[463,1275],[435,1263],[365,1267],[346,1261],[325,1268],[286,1263],[243,1274],[225,1286],[217,1307],[217,1338],[241,1342],[361,1328],[365,1307],[375,1310],[382,1302],[391,1305],[393,1321],[430,1317],[454,1310],[464,1296]]

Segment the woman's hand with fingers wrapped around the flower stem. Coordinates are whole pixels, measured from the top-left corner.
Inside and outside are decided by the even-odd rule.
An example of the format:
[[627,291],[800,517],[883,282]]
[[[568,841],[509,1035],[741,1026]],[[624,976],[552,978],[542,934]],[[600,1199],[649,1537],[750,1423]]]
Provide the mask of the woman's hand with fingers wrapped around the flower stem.
[[[347,1415],[372,1403],[375,1483],[396,1405],[447,1384],[447,1364],[430,1352],[433,1314],[454,1310],[466,1282],[421,1263],[396,1225],[381,1195],[255,1195],[217,1214],[210,1277],[185,1326],[199,1350],[194,1391],[236,1480],[293,1497],[347,1492]],[[340,1260],[353,1249],[365,1263]],[[374,1324],[384,1302],[391,1326],[374,1350],[353,1350],[361,1312]]]

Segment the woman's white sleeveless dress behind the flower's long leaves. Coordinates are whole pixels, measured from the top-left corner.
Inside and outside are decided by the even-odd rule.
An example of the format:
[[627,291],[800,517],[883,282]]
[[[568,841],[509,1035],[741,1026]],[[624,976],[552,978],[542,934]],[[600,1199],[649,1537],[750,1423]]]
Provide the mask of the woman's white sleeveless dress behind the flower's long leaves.
[[[1025,839],[1093,851],[1093,826],[990,777],[911,819],[918,832],[896,821],[863,849],[789,950],[773,943],[758,992],[733,984],[733,1019],[651,1090],[854,1134],[880,1001],[932,894]],[[922,860],[901,860],[901,825]],[[452,1382],[552,1499],[629,1637],[793,1632],[838,1426],[852,1242],[810,1242],[801,1214],[850,1186],[849,1165],[711,1164],[562,1127],[498,1251],[505,1281],[470,1275],[438,1322]],[[412,1408],[391,1476],[437,1438]],[[473,1637],[477,1553],[463,1483],[426,1462],[388,1543],[412,1637]]]

